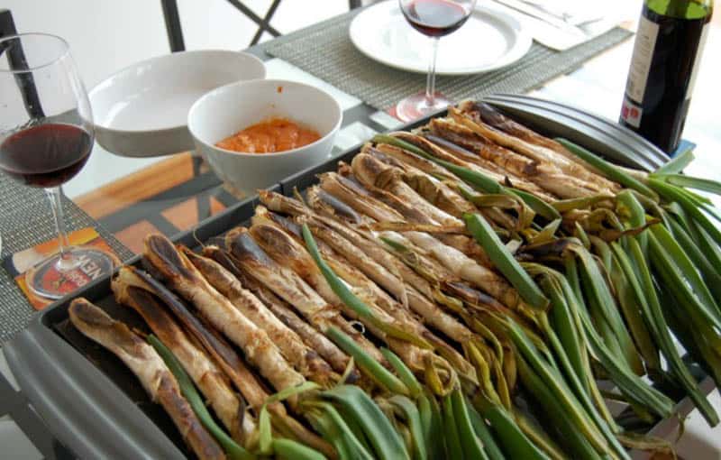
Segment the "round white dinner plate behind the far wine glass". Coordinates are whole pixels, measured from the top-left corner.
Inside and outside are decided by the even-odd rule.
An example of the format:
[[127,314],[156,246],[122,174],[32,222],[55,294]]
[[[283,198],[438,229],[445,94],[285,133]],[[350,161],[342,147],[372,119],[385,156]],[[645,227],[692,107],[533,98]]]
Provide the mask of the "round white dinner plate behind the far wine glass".
[[[372,60],[412,72],[428,70],[431,39],[406,22],[397,0],[358,14],[350,34],[356,48]],[[441,38],[436,72],[465,75],[500,69],[521,59],[531,42],[515,18],[480,0],[458,31]]]

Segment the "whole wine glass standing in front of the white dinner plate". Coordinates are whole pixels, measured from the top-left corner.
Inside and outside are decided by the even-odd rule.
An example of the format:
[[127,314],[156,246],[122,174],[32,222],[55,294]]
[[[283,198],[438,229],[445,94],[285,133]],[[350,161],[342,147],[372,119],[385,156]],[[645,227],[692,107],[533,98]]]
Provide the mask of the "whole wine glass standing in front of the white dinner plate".
[[397,117],[410,122],[441,110],[451,101],[435,90],[435,58],[441,37],[457,31],[468,20],[476,0],[398,0],[406,21],[431,37],[431,62],[425,80],[425,92],[406,97],[396,106]]

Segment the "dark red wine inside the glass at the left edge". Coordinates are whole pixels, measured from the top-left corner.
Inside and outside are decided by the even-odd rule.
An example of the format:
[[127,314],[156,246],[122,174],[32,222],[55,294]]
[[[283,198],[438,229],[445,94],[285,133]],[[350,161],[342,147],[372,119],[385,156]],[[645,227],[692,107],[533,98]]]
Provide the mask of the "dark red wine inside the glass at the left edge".
[[64,184],[85,166],[93,139],[73,124],[40,124],[0,144],[0,169],[32,187]]

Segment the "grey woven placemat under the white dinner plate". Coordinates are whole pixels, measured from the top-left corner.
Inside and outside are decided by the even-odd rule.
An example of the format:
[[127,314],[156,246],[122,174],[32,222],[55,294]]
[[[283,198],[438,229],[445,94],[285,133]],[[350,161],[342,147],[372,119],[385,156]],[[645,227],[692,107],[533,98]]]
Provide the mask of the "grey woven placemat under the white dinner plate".
[[[344,14],[289,33],[270,41],[264,48],[270,55],[287,60],[380,110],[423,90],[424,75],[392,69],[356,50],[348,35],[354,15]],[[534,42],[523,59],[506,69],[460,77],[441,76],[436,86],[452,100],[493,93],[525,93],[578,68],[631,35],[625,29],[616,28],[567,51],[553,51]],[[483,52],[482,47],[469,51]]]

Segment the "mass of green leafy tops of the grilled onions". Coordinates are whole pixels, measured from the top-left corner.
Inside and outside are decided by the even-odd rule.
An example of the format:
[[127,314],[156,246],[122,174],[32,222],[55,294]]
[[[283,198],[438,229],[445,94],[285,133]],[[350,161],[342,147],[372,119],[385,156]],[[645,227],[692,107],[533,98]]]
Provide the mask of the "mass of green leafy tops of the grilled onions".
[[[665,418],[673,411],[673,402],[641,379],[650,373],[676,382],[709,424],[717,423],[716,412],[698,390],[669,332],[671,327],[684,344],[689,343],[689,351],[699,356],[705,367],[717,369],[721,309],[716,299],[721,283],[709,284],[721,280],[716,263],[721,262],[721,232],[712,223],[721,216],[706,198],[689,189],[719,193],[721,187],[679,174],[690,153],[666,169],[644,176],[629,174],[588,150],[559,140],[607,179],[627,189],[613,198],[545,203],[396,137],[379,135],[373,141],[414,152],[449,170],[460,179],[454,189],[480,210],[497,207],[516,214],[518,227],[514,230],[518,233],[510,235],[520,235],[520,248],[518,243],[502,241],[499,234],[507,238],[509,233],[498,230],[482,214],[463,218],[490,262],[530,307],[525,315],[533,317],[533,326],[521,327],[503,312],[470,308],[453,296],[452,302],[439,302],[480,337],[472,346],[463,344],[479,373],[479,386],[474,388],[461,387],[454,373],[443,379],[433,366],[415,375],[402,359],[384,348],[386,368],[350,337],[331,328],[328,336],[351,355],[378,390],[371,398],[357,387],[339,385],[322,392],[318,400],[304,402],[314,414],[314,427],[336,450],[350,455],[356,449],[360,458],[556,458],[565,455],[561,451],[582,458],[627,458],[623,444],[653,446],[651,439],[631,437],[618,426],[598,389],[594,371],[615,382],[642,418]],[[580,208],[588,211],[583,220],[570,225],[569,234],[566,220],[561,219]],[[303,235],[326,281],[346,305],[361,318],[384,327],[389,337],[414,342],[410,333],[375,323],[370,308],[324,263],[305,226]],[[563,241],[574,235],[580,243]],[[560,264],[564,272],[539,263],[543,256],[533,262],[516,260],[518,254],[531,254],[533,260],[539,253],[533,255],[531,246],[540,251],[544,244],[558,248],[558,257],[547,259]],[[448,298],[440,292],[443,299]],[[677,308],[671,310],[670,301]],[[511,380],[515,382],[517,372],[526,393],[543,409],[543,417],[553,422],[556,429],[551,434],[563,449],[520,416],[511,402],[514,385],[509,384],[507,376],[511,374],[504,368],[511,363]],[[714,376],[721,375],[716,372]]]

